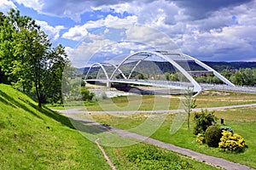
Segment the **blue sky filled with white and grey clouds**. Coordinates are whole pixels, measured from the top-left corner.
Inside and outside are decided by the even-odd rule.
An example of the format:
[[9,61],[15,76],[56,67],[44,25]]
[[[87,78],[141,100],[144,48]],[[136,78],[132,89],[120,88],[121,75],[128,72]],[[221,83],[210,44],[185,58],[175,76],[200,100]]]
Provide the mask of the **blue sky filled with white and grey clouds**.
[[100,61],[110,50],[174,46],[203,61],[256,61],[256,0],[0,1],[0,11],[9,8],[37,20],[78,67],[99,51]]

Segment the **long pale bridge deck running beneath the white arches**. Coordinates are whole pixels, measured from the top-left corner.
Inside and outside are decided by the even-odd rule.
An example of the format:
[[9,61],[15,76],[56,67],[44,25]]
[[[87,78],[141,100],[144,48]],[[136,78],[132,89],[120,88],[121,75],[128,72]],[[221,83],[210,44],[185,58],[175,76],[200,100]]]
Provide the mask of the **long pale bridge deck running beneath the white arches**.
[[[191,82],[170,82],[170,81],[161,81],[161,80],[87,79],[85,81],[86,82],[106,83],[108,87],[110,87],[111,83],[122,83],[122,84],[137,84],[137,85],[153,86],[153,87],[160,87],[160,88],[176,88],[176,89],[181,89],[181,90],[185,90],[188,87],[193,88],[193,84]],[[208,83],[199,83],[199,84],[201,85],[202,90],[215,89],[215,90],[246,92],[246,93],[256,94],[256,87],[245,87],[245,86],[231,87],[231,86],[228,86],[225,84],[208,84]]]

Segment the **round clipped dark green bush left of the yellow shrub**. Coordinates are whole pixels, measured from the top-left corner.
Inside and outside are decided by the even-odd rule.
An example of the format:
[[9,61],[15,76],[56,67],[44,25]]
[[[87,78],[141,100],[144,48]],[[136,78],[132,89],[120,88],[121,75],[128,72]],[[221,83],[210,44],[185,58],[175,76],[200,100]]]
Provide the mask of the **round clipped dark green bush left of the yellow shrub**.
[[217,126],[207,127],[205,133],[206,144],[210,147],[218,147],[220,138],[222,137],[222,131]]

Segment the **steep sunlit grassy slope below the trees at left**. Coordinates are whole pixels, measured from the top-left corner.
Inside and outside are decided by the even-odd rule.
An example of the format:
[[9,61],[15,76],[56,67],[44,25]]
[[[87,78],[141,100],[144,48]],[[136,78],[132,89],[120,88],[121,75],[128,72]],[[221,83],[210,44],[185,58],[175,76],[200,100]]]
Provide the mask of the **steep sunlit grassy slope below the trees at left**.
[[109,169],[69,120],[0,84],[0,169]]

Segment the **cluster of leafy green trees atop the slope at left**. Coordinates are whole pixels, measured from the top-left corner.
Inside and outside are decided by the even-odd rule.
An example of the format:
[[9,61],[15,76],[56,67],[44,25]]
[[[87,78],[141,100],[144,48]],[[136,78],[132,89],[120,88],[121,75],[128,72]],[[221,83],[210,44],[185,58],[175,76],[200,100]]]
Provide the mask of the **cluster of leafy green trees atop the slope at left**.
[[62,71],[69,62],[64,48],[52,48],[35,20],[15,9],[5,16],[0,31],[0,67],[9,82],[35,94],[40,107],[61,100]]

